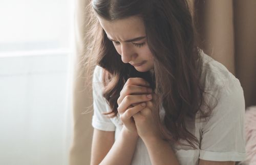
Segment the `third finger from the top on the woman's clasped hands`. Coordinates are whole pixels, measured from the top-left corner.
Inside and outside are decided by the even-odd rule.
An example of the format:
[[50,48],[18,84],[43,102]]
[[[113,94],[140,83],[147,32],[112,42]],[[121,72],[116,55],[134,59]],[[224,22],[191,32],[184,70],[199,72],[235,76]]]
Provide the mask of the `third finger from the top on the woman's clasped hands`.
[[[150,97],[151,96],[151,97]],[[122,114],[129,106],[136,104],[147,102],[152,99],[152,95],[128,95],[125,96],[123,101],[119,104],[117,111]]]

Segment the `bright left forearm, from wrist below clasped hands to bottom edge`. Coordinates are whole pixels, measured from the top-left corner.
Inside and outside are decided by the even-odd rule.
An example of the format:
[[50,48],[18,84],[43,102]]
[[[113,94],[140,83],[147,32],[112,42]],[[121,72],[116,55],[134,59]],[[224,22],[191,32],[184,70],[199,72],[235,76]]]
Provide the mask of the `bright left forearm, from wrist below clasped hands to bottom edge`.
[[131,164],[138,137],[138,135],[132,135],[126,129],[122,129],[100,165]]

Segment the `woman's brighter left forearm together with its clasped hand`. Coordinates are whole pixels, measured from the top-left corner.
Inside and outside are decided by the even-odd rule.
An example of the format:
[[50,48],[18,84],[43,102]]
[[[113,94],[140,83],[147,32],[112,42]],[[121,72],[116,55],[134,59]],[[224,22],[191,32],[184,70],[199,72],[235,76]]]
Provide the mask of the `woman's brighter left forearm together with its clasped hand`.
[[139,137],[132,116],[145,107],[146,104],[143,104],[143,102],[150,100],[146,95],[138,94],[147,94],[148,92],[151,92],[151,90],[148,90],[148,87],[138,86],[149,86],[143,79],[134,78],[133,80],[134,81],[126,81],[120,92],[120,97],[117,100],[117,110],[120,114],[123,128],[108,154],[100,162],[100,165],[123,165],[131,164],[132,162],[137,139]]

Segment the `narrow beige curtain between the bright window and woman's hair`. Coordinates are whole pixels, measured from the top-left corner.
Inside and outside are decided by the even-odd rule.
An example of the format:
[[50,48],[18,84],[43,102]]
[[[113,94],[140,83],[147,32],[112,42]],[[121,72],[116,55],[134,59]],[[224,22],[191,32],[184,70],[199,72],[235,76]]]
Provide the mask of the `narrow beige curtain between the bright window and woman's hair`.
[[[75,54],[73,57],[73,145],[70,150],[69,162],[72,165],[90,164],[91,141],[93,128],[92,121],[92,93],[84,82],[83,64],[88,15],[86,7],[89,0],[75,1]],[[91,110],[90,113],[84,113]]]

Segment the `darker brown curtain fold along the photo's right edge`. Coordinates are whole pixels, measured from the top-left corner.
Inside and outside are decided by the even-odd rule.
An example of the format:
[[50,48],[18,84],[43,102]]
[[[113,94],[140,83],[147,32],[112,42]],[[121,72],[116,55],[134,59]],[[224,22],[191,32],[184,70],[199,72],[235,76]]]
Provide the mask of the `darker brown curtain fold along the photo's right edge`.
[[256,1],[234,1],[236,76],[244,89],[245,105],[256,105]]

